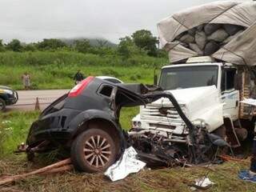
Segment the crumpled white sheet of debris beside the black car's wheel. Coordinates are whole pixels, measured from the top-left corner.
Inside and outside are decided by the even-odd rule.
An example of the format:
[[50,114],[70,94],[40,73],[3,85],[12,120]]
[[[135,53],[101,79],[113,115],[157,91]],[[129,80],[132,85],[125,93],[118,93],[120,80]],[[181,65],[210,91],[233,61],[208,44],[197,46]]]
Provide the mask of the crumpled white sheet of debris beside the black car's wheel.
[[104,173],[112,182],[126,178],[129,174],[137,173],[146,166],[145,162],[137,159],[137,152],[132,146],[125,150],[122,157],[110,166]]

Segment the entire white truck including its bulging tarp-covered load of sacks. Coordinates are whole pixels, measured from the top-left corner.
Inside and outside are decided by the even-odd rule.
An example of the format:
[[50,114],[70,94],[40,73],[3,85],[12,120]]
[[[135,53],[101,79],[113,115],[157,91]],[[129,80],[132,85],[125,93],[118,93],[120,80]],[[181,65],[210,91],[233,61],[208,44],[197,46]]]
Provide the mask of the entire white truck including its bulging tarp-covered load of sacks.
[[[233,147],[254,130],[254,110],[242,100],[255,98],[255,33],[254,1],[210,2],[158,23],[172,64],[162,67],[158,86],[174,95],[194,126]],[[190,142],[188,128],[165,98],[141,106],[132,124],[137,133],[131,134],[150,130],[172,143]]]

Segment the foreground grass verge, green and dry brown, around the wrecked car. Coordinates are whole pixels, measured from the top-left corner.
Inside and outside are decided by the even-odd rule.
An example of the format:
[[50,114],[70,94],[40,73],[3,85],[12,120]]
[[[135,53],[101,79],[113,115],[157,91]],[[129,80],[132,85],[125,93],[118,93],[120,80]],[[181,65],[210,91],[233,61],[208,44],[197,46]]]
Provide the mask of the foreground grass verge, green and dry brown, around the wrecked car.
[[[122,110],[122,127],[130,127],[130,119],[138,108]],[[25,154],[13,154],[16,146],[24,142],[27,131],[38,117],[38,112],[12,112],[0,114],[0,175],[20,174],[50,163],[52,154],[26,161]],[[103,174],[86,174],[74,171],[47,176],[34,176],[13,185],[0,186],[0,191],[191,191],[194,179],[209,172],[215,185],[207,191],[256,191],[256,185],[238,179],[238,171],[248,169],[249,163],[226,162],[222,165],[191,168],[163,168],[142,170],[119,182],[110,182]]]

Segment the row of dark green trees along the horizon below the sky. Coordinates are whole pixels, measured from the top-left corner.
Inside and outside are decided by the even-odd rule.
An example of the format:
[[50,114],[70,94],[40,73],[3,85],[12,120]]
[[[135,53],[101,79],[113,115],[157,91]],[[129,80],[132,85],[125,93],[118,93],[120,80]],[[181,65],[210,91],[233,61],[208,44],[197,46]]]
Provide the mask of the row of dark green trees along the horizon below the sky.
[[133,55],[148,55],[151,57],[166,57],[166,52],[159,50],[158,38],[154,37],[150,30],[137,30],[132,35],[120,38],[116,46],[109,46],[108,41],[97,39],[97,46],[91,45],[86,38],[75,39],[66,42],[58,38],[45,38],[42,42],[22,43],[18,39],[4,44],[0,39],[0,52],[14,51],[44,51],[44,50],[69,50],[83,54],[118,54],[124,58]]

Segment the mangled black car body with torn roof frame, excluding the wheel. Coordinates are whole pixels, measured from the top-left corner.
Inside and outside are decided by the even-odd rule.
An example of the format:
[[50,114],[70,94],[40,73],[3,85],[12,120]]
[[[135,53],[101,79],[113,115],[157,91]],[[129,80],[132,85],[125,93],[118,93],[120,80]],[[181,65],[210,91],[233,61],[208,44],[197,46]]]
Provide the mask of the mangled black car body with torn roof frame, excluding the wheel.
[[[111,96],[101,94],[103,86],[112,87]],[[38,120],[30,127],[26,143],[29,148],[44,141],[49,141],[51,146],[54,144],[69,147],[70,142],[86,129],[86,122],[94,119],[111,124],[118,132],[122,142],[120,145],[125,146],[126,135],[119,123],[122,107],[146,105],[162,97],[170,98],[184,122],[192,127],[172,94],[165,93],[161,88],[142,84],[114,84],[94,78],[78,96],[68,97],[65,94],[42,111]]]

